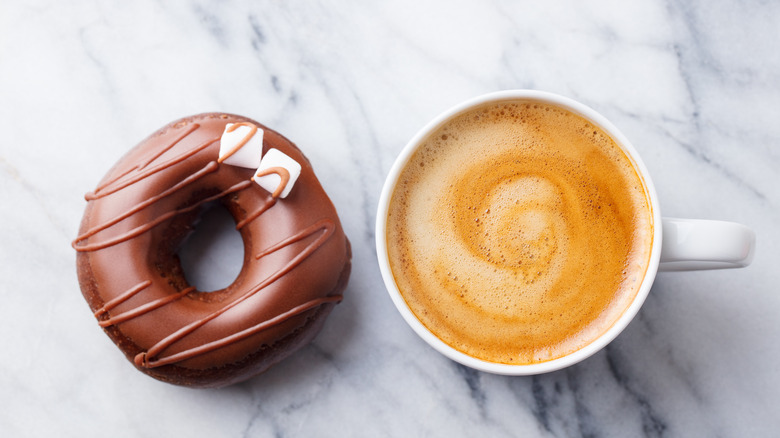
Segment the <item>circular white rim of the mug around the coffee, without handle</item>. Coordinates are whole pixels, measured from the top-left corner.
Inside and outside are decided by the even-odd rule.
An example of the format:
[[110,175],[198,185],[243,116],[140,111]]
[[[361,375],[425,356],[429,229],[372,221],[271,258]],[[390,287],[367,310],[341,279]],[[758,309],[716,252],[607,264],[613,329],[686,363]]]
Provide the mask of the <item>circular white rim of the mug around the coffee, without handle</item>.
[[[424,142],[424,140],[435,130],[441,127],[444,123],[447,123],[454,117],[470,111],[479,106],[486,104],[496,104],[502,101],[535,101],[539,103],[552,104],[562,107],[572,113],[583,117],[591,123],[600,127],[606,132],[615,143],[626,153],[629,159],[634,165],[634,169],[637,171],[640,179],[644,183],[645,193],[648,197],[649,206],[651,209],[651,215],[653,218],[653,237],[651,241],[650,260],[642,278],[642,284],[637,291],[631,304],[626,308],[623,314],[615,321],[612,326],[598,336],[595,340],[579,348],[565,356],[551,359],[544,362],[532,363],[532,364],[503,364],[496,362],[489,362],[483,359],[470,356],[463,353],[449,344],[439,339],[433,332],[431,332],[425,325],[414,315],[409,306],[406,304],[406,300],[401,295],[400,290],[393,277],[392,270],[390,268],[390,260],[387,253],[387,214],[390,206],[390,199],[392,197],[395,186],[398,182],[398,178],[401,175],[401,171],[406,167],[406,164],[411,159],[414,152]],[[448,357],[455,362],[462,365],[474,368],[480,371],[485,371],[493,374],[503,375],[534,375],[551,371],[556,371],[571,365],[574,365],[586,358],[592,356],[607,344],[612,342],[634,319],[639,312],[642,304],[644,303],[647,295],[650,292],[650,288],[655,279],[655,275],[658,271],[658,265],[661,257],[661,243],[663,241],[662,228],[661,228],[661,212],[658,206],[658,198],[655,191],[655,186],[650,174],[642,161],[639,153],[634,146],[628,140],[628,138],[620,132],[616,126],[614,126],[609,120],[607,120],[600,113],[587,105],[580,103],[571,98],[539,90],[504,90],[492,93],[483,94],[468,100],[465,100],[449,109],[443,111],[438,116],[433,118],[425,126],[423,126],[409,142],[404,146],[401,152],[396,157],[390,171],[388,172],[382,192],[379,197],[379,205],[377,208],[376,216],[376,229],[375,229],[376,251],[379,262],[379,268],[382,273],[382,279],[385,284],[390,298],[393,301],[396,309],[401,313],[406,323],[426,341],[431,347],[437,350],[439,353]]]

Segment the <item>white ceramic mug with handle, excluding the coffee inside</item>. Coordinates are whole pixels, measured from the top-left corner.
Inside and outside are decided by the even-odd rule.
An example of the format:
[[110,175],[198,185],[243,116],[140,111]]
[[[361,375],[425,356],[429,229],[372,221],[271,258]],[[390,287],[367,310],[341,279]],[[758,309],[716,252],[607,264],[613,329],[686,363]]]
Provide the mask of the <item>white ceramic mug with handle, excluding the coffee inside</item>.
[[[631,157],[637,172],[645,181],[653,212],[653,242],[641,287],[620,318],[595,341],[563,357],[527,365],[488,362],[462,353],[431,333],[412,313],[401,296],[390,268],[387,253],[386,225],[391,195],[401,171],[425,139],[443,124],[475,107],[501,101],[534,101],[567,109],[599,126]],[[531,375],[573,365],[601,350],[617,337],[639,311],[658,271],[739,268],[750,264],[755,248],[755,234],[748,227],[723,221],[662,218],[652,179],[639,154],[628,139],[606,118],[593,109],[552,93],[535,90],[508,90],[486,94],[445,111],[423,127],[401,151],[387,176],[376,219],[376,249],[379,268],[393,303],[414,331],[433,348],[450,359],[481,371],[506,375]]]

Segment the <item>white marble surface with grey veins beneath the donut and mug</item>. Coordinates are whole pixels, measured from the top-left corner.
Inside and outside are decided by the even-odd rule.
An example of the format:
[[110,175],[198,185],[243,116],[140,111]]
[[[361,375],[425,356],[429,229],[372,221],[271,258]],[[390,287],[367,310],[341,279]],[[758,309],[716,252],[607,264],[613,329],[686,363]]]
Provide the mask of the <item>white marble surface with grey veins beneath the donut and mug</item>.
[[[174,3],[0,3],[0,435],[777,436],[780,5]],[[379,192],[429,119],[508,88],[602,112],[642,154],[663,214],[748,224],[753,265],[659,275],[622,335],[562,371],[496,376],[436,353],[382,285]],[[108,168],[205,111],[295,141],[354,250],[315,342],[220,390],[130,366],[70,247]]]

